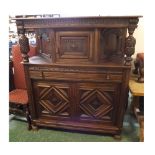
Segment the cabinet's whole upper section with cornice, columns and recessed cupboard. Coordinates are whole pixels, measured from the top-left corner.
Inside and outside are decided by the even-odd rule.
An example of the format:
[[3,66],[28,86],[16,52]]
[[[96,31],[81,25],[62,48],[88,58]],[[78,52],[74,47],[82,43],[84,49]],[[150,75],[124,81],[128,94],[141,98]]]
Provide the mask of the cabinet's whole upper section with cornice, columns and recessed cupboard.
[[[52,63],[131,65],[139,16],[16,18],[22,34],[23,61],[28,62],[25,31],[35,31],[37,49]],[[128,34],[127,34],[128,30]],[[25,52],[25,49],[26,52]]]

